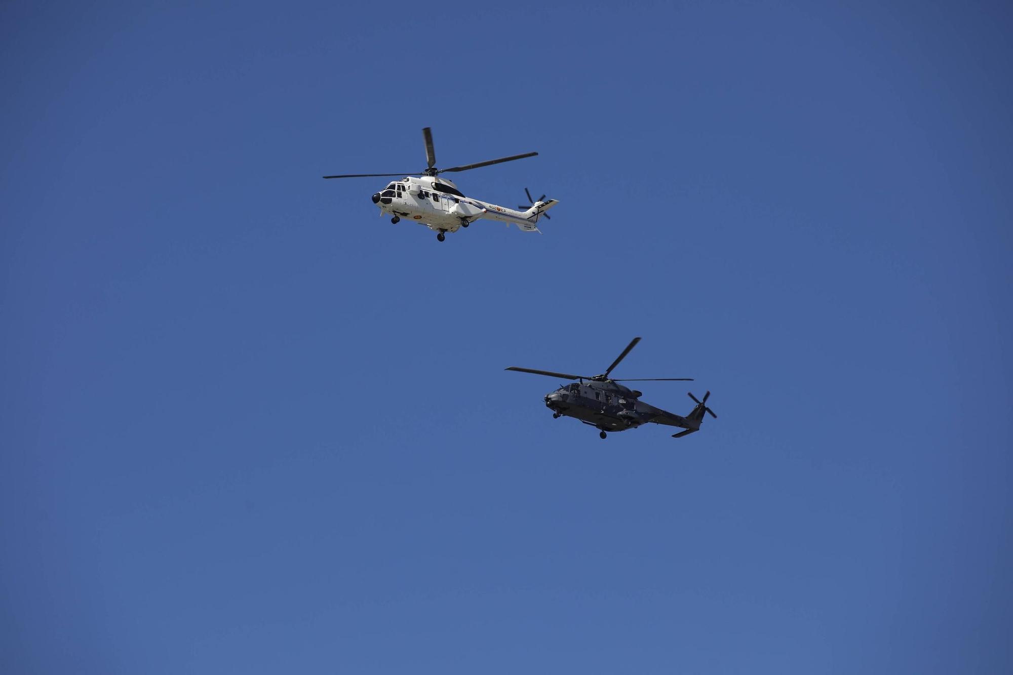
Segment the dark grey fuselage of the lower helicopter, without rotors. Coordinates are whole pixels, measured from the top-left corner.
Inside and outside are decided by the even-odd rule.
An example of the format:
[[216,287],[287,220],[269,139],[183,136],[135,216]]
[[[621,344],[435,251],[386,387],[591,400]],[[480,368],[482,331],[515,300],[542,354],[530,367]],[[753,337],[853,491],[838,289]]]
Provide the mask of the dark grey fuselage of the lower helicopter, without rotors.
[[612,380],[566,384],[545,395],[556,416],[574,418],[603,432],[636,429],[648,422],[696,431],[699,422],[639,400],[640,392]]

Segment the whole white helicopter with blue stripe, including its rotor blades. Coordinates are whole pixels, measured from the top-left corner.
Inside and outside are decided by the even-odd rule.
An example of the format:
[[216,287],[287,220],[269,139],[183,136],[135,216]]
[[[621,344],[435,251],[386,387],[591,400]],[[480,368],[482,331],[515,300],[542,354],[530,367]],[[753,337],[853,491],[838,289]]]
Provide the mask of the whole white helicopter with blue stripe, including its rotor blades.
[[[390,215],[390,222],[398,223],[401,218],[425,225],[431,230],[437,232],[437,239],[446,239],[447,232],[457,232],[459,228],[468,227],[471,223],[485,218],[488,220],[498,220],[508,224],[517,225],[523,232],[538,232],[538,219],[549,215],[545,213],[555,205],[556,200],[545,201],[545,195],[538,198],[538,201],[531,199],[531,193],[525,188],[524,192],[528,196],[531,206],[520,206],[515,211],[506,207],[482,202],[472,197],[465,197],[457,185],[446,178],[438,177],[441,173],[453,171],[467,171],[480,166],[491,164],[501,164],[515,159],[534,157],[537,152],[528,152],[523,155],[512,157],[500,157],[490,159],[477,164],[465,164],[464,166],[452,166],[451,168],[438,169],[436,167],[437,156],[433,150],[433,132],[426,127],[422,130],[422,138],[425,139],[425,158],[428,164],[421,173],[348,173],[342,175],[325,175],[325,178],[371,178],[404,175],[400,180],[395,180],[373,195],[373,203],[380,207],[381,217]],[[418,176],[418,177],[415,177]]]

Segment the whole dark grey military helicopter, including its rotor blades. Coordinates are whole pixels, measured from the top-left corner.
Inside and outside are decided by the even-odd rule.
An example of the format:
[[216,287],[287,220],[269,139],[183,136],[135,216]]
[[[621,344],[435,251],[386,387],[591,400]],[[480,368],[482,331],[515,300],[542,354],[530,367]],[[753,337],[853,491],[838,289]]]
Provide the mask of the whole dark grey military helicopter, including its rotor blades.
[[545,396],[545,404],[552,409],[552,417],[559,418],[566,416],[576,418],[586,425],[591,425],[600,429],[602,438],[606,437],[605,432],[626,431],[636,429],[642,424],[651,422],[656,425],[668,425],[670,427],[680,427],[686,431],[673,434],[672,438],[681,438],[700,431],[703,423],[704,413],[717,419],[714,411],[707,407],[708,391],[700,400],[693,394],[690,398],[696,401],[696,407],[690,410],[685,418],[675,413],[663,410],[659,407],[649,405],[639,400],[641,394],[635,389],[630,389],[619,382],[672,382],[688,381],[692,377],[647,377],[638,379],[613,380],[609,373],[619,365],[619,362],[626,358],[639,338],[634,338],[619,358],[612,362],[612,365],[601,375],[589,377],[587,375],[570,375],[568,373],[555,373],[549,370],[533,370],[531,368],[517,368],[512,366],[506,370],[516,370],[522,373],[534,373],[535,375],[548,375],[549,377],[561,377],[567,380],[579,380],[573,384],[566,384]]

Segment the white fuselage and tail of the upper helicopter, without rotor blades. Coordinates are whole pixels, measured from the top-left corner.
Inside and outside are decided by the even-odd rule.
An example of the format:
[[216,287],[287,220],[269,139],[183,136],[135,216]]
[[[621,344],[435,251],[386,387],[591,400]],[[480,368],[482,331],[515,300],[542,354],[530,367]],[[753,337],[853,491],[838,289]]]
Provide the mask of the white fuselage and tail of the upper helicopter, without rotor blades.
[[450,180],[435,176],[406,176],[373,195],[380,214],[425,225],[437,232],[456,232],[479,219],[517,225],[524,232],[538,232],[538,220],[556,200],[536,202],[528,211],[465,197]]

